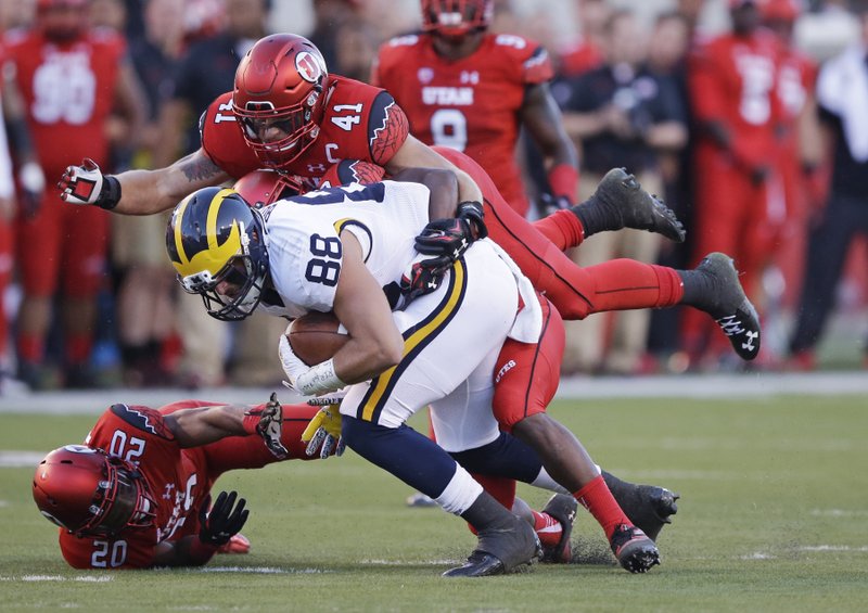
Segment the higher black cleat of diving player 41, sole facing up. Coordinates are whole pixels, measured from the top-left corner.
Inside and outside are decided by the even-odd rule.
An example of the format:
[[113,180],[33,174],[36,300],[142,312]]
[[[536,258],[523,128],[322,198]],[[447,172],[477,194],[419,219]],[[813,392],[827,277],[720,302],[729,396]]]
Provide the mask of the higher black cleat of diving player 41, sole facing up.
[[656,195],[644,191],[624,168],[612,168],[605,174],[587,203],[595,200],[613,217],[609,230],[634,228],[663,234],[676,243],[685,241],[687,232],[675,213]]

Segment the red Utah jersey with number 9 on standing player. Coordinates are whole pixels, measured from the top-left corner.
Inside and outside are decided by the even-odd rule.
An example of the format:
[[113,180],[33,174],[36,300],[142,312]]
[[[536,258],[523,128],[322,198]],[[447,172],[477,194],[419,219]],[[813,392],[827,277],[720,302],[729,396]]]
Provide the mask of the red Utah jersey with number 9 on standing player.
[[553,76],[546,50],[511,34],[487,34],[470,56],[455,62],[429,35],[394,38],[380,48],[372,81],[386,88],[422,142],[467,153],[520,210],[527,196],[515,163],[519,112],[525,87]]

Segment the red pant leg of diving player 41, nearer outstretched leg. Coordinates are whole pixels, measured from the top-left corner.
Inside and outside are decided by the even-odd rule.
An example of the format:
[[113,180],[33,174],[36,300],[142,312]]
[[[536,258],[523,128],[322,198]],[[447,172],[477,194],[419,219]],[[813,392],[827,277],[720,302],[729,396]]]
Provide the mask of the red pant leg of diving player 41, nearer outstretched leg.
[[[633,259],[614,259],[587,268],[577,266],[563,253],[576,245],[552,243],[509,206],[478,164],[458,151],[434,149],[476,181],[485,200],[488,235],[515,260],[534,288],[546,294],[564,319],[584,319],[609,310],[660,308],[680,302],[681,280],[672,268]],[[563,234],[575,235],[575,232]]]

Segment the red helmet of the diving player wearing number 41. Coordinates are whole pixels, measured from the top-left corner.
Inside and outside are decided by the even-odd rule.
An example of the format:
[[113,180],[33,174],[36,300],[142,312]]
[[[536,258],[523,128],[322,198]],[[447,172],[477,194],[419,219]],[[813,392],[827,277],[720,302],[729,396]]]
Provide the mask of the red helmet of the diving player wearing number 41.
[[314,143],[328,76],[319,49],[293,34],[260,39],[241,61],[232,108],[263,164],[280,168]]

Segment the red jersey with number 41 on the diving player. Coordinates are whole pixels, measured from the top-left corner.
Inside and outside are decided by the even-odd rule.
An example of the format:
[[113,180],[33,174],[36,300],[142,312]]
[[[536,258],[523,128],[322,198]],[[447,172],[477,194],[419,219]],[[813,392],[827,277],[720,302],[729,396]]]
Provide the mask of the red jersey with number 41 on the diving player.
[[[318,179],[342,159],[385,166],[407,140],[407,117],[382,89],[330,75],[326,95],[319,136],[301,157],[281,170]],[[212,102],[202,117],[201,129],[202,149],[233,178],[263,167],[235,122],[231,91]]]

